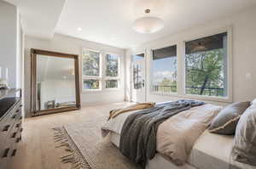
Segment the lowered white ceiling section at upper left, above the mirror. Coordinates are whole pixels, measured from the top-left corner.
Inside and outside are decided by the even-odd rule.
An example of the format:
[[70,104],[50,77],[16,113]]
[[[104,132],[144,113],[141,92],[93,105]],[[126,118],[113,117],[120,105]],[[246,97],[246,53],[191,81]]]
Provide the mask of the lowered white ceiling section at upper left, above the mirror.
[[52,38],[65,0],[5,0],[20,10],[21,23],[27,36]]

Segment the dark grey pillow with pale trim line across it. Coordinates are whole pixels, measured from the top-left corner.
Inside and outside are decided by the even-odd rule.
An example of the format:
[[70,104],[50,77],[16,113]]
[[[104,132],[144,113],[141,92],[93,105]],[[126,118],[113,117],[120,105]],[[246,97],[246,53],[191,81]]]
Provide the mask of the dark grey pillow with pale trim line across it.
[[237,122],[249,106],[250,102],[237,102],[224,107],[213,119],[209,131],[226,135],[235,134]]

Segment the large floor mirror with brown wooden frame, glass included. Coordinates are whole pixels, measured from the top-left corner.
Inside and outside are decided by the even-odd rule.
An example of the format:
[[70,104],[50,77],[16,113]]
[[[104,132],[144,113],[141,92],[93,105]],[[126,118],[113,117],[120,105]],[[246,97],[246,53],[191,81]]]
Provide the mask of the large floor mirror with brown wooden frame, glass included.
[[80,109],[79,56],[31,49],[32,115]]

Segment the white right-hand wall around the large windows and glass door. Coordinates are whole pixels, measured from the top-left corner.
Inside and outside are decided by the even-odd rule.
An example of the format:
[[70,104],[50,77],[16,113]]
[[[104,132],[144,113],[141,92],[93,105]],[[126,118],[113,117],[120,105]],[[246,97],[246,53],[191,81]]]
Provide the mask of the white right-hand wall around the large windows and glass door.
[[[175,26],[175,25],[174,25]],[[189,30],[181,31],[177,34],[163,37],[153,42],[147,42],[135,48],[130,48],[125,51],[126,55],[126,77],[125,85],[125,99],[131,100],[131,54],[147,49],[147,77],[149,79],[149,63],[150,63],[150,49],[163,48],[173,44],[179,47],[177,53],[182,50],[181,44],[185,40],[200,37],[201,35],[208,34],[217,30],[232,27],[232,65],[233,70],[233,102],[252,100],[256,98],[256,7],[248,8],[246,11],[241,11],[239,14],[228,16],[219,20],[212,20],[212,22],[205,25],[199,25]],[[183,54],[177,54],[177,57],[183,57]],[[180,71],[181,72],[181,71]],[[247,80],[246,74],[251,73],[252,79]],[[149,80],[148,80],[149,85]],[[173,96],[161,96],[150,93],[149,87],[147,89],[147,101],[166,101],[177,99]],[[216,103],[216,102],[215,102]],[[217,104],[222,104],[218,103]]]

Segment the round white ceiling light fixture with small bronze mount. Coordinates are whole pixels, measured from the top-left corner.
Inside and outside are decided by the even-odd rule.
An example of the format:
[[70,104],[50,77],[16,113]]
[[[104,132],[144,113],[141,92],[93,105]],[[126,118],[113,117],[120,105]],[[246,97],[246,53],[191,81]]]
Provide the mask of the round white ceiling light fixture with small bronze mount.
[[[147,8],[145,10],[145,14],[149,13],[150,9]],[[157,17],[146,16],[143,18],[139,18],[138,20],[135,20],[135,22],[132,25],[132,28],[140,33],[154,33],[164,28],[164,20],[161,20]]]

